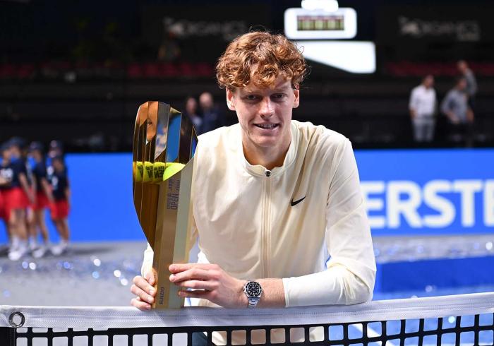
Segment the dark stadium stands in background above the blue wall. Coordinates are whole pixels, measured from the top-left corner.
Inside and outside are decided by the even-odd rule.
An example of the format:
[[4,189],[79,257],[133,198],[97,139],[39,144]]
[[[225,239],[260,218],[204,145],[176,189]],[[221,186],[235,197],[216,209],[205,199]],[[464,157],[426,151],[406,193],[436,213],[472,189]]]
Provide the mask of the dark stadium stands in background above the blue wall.
[[[441,100],[456,61],[466,59],[479,85],[475,145],[493,146],[494,4],[431,3],[339,1],[357,11],[354,40],[375,42],[378,69],[352,75],[308,61],[294,118],[342,132],[356,148],[414,146],[411,88],[433,73]],[[183,109],[205,90],[234,123],[215,61],[251,28],[283,32],[289,7],[300,1],[0,1],[0,141],[57,138],[68,151],[128,151],[140,103]],[[431,146],[461,145],[439,117]]]

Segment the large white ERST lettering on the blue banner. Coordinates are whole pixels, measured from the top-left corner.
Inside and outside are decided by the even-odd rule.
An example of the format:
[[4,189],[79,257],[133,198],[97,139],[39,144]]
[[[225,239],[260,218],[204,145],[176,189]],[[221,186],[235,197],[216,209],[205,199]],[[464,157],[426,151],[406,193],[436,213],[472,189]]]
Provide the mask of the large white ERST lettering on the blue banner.
[[362,181],[372,229],[494,227],[494,180]]

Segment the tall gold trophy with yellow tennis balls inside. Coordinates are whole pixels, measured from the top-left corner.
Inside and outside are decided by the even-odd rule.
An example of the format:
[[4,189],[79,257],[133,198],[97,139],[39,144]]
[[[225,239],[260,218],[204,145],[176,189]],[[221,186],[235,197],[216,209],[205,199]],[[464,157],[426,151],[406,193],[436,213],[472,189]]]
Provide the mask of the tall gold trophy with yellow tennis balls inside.
[[191,188],[197,135],[191,119],[166,103],[140,105],[133,137],[133,199],[154,251],[155,309],[183,306],[169,281],[171,263],[187,263],[191,249]]

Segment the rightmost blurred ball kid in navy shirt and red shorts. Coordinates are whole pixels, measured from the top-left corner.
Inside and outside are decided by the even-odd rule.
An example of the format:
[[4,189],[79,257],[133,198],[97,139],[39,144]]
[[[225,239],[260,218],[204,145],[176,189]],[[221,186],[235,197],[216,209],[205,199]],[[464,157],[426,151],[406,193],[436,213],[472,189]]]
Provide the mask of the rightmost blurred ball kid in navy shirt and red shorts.
[[67,218],[70,210],[71,190],[68,184],[64,157],[60,155],[52,157],[52,167],[54,172],[49,176],[49,180],[52,184],[54,202],[50,204],[50,210],[52,221],[61,238],[59,244],[52,247],[52,253],[54,256],[59,256],[68,247],[70,230],[68,229]]

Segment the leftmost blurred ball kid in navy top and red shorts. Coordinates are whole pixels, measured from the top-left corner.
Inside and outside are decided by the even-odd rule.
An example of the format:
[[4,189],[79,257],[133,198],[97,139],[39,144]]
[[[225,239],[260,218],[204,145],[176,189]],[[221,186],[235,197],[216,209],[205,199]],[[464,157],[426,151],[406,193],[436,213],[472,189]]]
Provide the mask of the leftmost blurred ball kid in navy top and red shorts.
[[28,182],[28,172],[20,155],[23,143],[18,138],[8,141],[3,152],[0,176],[5,179],[0,185],[4,200],[4,214],[7,217],[8,230],[11,233],[11,248],[8,258],[18,261],[28,253],[28,231],[26,227],[26,208],[35,203]]

